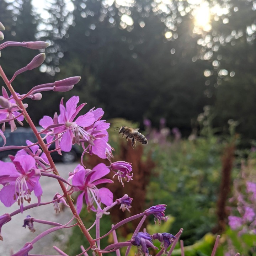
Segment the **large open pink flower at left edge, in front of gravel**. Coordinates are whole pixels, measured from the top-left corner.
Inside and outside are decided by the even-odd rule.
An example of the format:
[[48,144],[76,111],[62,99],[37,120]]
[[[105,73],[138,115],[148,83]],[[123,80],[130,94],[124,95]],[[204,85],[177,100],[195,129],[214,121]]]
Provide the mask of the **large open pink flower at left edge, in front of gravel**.
[[6,207],[18,201],[23,212],[23,202],[26,200],[30,203],[32,191],[40,202],[43,192],[39,183],[41,172],[36,168],[36,160],[32,156],[17,156],[13,163],[0,161],[0,164],[0,184],[4,185],[0,191],[0,201]]

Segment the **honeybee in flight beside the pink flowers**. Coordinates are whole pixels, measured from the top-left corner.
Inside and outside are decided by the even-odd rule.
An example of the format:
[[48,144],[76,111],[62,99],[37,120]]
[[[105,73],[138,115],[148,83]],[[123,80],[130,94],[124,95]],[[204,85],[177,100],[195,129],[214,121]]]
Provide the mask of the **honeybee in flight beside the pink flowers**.
[[[122,138],[124,137],[124,135],[126,135],[126,140],[128,139],[132,140],[132,148],[136,146],[136,140],[141,144],[144,144],[144,145],[148,144],[148,140],[146,139],[146,137],[143,134],[138,132],[139,129],[133,129],[127,126],[122,126],[121,128],[120,127],[114,127],[114,128],[119,129],[118,135],[122,133]],[[115,130],[118,130],[118,129],[115,129]]]

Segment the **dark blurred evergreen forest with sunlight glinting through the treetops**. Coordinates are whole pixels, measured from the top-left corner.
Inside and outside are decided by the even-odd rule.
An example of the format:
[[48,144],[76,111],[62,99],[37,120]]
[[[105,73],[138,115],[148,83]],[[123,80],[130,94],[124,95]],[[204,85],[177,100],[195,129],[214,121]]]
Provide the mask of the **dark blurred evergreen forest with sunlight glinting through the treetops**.
[[[144,118],[154,126],[165,118],[168,127],[189,135],[210,105],[214,127],[225,131],[234,119],[243,138],[255,138],[255,1],[44,0],[42,5],[0,1],[5,41],[50,43],[40,70],[15,79],[19,93],[80,75],[69,96],[79,95],[87,110],[102,107],[107,119],[122,117],[143,128]],[[1,55],[11,78],[34,52],[10,47]],[[30,102],[31,116],[38,122],[53,115],[63,96],[45,92],[47,105]]]

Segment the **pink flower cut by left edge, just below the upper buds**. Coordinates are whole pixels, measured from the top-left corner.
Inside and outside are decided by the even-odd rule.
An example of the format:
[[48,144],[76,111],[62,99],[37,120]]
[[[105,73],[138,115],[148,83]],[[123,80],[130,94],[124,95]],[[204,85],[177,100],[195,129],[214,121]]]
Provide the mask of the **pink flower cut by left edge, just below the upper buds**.
[[[5,120],[5,122],[8,122],[8,119],[12,119],[9,121],[9,124],[11,126],[11,131],[13,132],[17,129],[14,120],[16,119],[17,122],[23,126],[22,121],[24,120],[24,117],[20,115],[21,109],[17,106],[15,100],[9,100],[9,96],[4,87],[2,87],[2,94],[3,96],[0,96],[0,120]],[[28,105],[24,104],[24,106],[27,107]]]

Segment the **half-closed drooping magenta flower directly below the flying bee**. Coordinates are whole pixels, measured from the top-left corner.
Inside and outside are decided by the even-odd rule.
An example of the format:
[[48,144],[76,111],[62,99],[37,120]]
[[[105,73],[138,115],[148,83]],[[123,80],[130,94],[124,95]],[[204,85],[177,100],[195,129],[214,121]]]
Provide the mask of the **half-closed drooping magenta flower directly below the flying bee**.
[[132,180],[133,174],[132,172],[132,163],[128,163],[125,161],[117,161],[113,162],[110,166],[111,170],[117,170],[116,174],[114,174],[113,178],[115,176],[118,176],[118,181],[122,183],[124,187],[124,183],[122,178],[124,178],[125,181],[129,182]]

